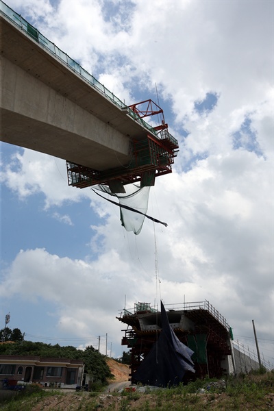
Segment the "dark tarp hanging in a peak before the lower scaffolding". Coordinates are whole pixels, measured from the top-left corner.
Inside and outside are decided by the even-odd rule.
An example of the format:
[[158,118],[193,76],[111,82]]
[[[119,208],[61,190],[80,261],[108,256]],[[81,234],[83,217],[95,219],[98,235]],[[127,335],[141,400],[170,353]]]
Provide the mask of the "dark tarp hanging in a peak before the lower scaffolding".
[[194,353],[181,343],[169,324],[161,301],[162,332],[158,341],[142,361],[133,378],[136,382],[152,386],[177,386],[186,371],[195,373],[191,356]]

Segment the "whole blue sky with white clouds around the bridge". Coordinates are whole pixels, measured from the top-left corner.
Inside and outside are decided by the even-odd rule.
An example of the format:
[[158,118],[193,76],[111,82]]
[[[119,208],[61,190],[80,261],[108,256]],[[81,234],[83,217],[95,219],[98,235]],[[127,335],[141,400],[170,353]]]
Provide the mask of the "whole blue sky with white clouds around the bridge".
[[125,303],[208,300],[273,364],[273,1],[5,3],[125,103],[157,84],[180,151],[149,199],[168,227],[135,236],[64,160],[2,143],[1,327],[119,357]]

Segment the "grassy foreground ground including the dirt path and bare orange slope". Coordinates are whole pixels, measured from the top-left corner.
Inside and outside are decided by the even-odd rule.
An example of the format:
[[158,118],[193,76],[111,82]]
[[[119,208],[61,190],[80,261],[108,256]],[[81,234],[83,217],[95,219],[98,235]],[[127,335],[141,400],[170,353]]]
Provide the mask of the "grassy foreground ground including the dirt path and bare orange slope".
[[[22,397],[16,401],[1,403],[3,411],[230,411],[230,410],[271,410],[274,408],[274,373],[247,375],[232,382],[225,392],[206,389],[176,390],[169,388],[142,387],[142,390],[121,390],[129,386],[129,368],[114,360],[108,360],[114,375],[103,393],[79,392],[75,390],[55,390],[48,397]],[[221,380],[223,381],[223,380]],[[212,382],[216,386],[216,382]],[[222,383],[223,384],[223,383]]]

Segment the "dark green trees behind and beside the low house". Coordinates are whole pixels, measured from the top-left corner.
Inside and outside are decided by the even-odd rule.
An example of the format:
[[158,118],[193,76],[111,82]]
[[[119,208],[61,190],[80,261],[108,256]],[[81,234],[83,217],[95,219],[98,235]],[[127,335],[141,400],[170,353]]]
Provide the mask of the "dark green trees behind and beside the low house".
[[59,344],[51,345],[33,343],[32,341],[17,341],[14,344],[0,345],[0,355],[40,356],[82,360],[85,364],[86,373],[92,374],[95,382],[105,384],[107,379],[112,377],[105,356],[100,354],[92,346],[80,350],[72,346],[61,347]]

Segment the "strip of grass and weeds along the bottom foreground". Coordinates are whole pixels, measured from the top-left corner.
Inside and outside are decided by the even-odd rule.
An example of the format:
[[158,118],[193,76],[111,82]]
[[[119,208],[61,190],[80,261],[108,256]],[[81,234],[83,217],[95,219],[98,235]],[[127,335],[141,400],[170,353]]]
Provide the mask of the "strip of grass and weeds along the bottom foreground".
[[64,393],[30,386],[2,401],[3,411],[231,411],[273,408],[274,372],[250,373],[225,380],[203,379],[175,388],[124,390],[122,393]]

